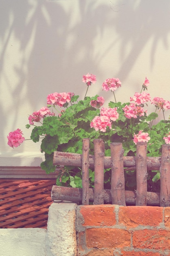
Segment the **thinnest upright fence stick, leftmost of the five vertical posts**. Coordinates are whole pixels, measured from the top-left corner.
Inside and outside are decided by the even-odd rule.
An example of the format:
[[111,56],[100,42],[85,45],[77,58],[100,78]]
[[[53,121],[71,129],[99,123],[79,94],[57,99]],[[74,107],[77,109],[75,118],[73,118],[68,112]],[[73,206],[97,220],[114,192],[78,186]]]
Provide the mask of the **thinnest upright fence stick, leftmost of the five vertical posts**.
[[89,145],[90,139],[83,139],[82,150],[82,204],[89,204]]

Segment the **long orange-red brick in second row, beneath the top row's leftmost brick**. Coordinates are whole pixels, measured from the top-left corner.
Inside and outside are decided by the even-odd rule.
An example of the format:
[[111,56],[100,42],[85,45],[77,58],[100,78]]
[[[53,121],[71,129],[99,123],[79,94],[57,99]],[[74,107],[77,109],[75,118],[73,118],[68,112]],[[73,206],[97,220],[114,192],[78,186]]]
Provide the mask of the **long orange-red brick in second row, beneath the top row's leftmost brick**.
[[89,248],[127,247],[131,245],[131,234],[124,229],[87,229],[86,244]]

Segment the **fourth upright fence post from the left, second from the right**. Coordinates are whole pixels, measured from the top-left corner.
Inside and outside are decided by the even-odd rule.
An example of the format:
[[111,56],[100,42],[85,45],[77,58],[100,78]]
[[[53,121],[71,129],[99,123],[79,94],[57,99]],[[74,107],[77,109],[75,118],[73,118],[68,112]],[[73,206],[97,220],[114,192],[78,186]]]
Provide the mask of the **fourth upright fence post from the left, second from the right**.
[[147,205],[147,142],[137,142],[136,146],[136,205]]

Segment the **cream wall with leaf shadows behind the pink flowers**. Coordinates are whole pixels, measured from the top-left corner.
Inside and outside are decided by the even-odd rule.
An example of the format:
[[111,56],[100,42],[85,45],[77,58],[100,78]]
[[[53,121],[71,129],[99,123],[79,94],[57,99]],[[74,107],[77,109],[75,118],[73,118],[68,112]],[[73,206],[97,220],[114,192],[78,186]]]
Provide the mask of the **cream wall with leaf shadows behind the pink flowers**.
[[0,17],[1,156],[18,156],[24,165],[29,154],[39,164],[40,143],[13,149],[8,133],[20,128],[29,138],[28,115],[52,92],[83,98],[87,72],[97,77],[90,96],[111,100],[101,84],[118,77],[117,100],[127,102],[147,76],[151,97],[170,99],[169,0],[8,0],[1,1]]

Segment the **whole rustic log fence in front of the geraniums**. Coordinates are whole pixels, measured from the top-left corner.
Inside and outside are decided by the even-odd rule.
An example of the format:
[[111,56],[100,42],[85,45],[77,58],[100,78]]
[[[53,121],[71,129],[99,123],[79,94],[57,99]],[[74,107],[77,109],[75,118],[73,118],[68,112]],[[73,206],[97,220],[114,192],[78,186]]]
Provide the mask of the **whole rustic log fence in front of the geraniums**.
[[[111,157],[105,157],[102,139],[94,139],[94,155],[89,155],[89,139],[83,139],[81,154],[54,152],[54,165],[82,167],[82,189],[53,186],[52,200],[82,204],[170,206],[170,145],[162,145],[161,157],[146,157],[147,143],[137,142],[136,156],[124,157],[122,143],[111,143]],[[94,168],[94,189],[89,188],[89,168]],[[111,168],[111,189],[104,189],[104,168]],[[124,168],[136,170],[136,191],[125,191]],[[148,170],[160,170],[160,193],[147,191]]]

